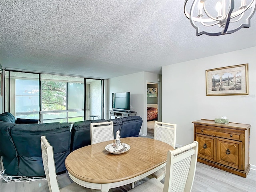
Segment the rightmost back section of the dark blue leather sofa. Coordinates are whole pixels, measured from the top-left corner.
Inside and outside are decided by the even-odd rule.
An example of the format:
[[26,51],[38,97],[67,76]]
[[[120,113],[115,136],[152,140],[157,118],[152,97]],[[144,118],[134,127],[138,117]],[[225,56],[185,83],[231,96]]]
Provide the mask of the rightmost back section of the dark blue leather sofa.
[[140,116],[122,117],[122,126],[120,128],[120,137],[138,137],[142,126],[142,118]]

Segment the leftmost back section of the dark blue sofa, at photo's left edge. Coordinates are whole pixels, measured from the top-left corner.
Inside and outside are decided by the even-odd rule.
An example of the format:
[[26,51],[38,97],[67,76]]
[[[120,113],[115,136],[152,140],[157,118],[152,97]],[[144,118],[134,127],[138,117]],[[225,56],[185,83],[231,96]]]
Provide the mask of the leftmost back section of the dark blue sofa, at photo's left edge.
[[18,175],[18,154],[10,134],[15,125],[14,123],[0,121],[0,151],[5,173],[9,175]]

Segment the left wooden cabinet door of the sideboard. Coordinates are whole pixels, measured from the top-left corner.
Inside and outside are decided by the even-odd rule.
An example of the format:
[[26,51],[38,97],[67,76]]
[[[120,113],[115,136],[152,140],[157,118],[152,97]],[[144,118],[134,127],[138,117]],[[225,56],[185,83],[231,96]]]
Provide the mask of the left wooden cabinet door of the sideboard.
[[212,136],[196,134],[196,141],[198,141],[198,157],[215,161],[216,138]]

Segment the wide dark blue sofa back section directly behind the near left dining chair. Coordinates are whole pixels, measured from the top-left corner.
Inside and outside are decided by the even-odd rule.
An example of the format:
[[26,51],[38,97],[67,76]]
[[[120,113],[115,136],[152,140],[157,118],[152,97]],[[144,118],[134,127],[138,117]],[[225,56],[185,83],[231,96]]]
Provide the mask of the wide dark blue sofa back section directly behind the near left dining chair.
[[65,159],[70,153],[69,123],[17,124],[11,130],[19,154],[18,176],[44,176],[40,137],[46,136],[53,146],[56,172],[66,170]]

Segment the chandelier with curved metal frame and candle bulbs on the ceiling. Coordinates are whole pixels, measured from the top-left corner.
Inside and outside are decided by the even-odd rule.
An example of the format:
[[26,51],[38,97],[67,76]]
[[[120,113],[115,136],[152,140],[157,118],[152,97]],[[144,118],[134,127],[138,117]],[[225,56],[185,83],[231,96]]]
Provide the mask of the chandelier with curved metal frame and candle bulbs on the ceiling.
[[243,27],[249,28],[250,19],[256,10],[255,2],[256,0],[185,0],[184,13],[196,29],[196,36],[218,36],[234,33]]

